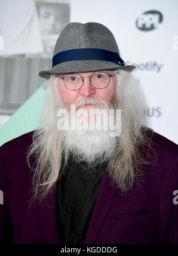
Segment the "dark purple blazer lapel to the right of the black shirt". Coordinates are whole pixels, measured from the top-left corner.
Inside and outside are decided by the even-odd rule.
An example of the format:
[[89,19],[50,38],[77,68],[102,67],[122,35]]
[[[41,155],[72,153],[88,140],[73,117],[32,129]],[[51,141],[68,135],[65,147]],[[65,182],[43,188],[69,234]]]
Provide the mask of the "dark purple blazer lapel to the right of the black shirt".
[[96,241],[109,208],[112,206],[113,200],[117,195],[117,191],[116,187],[114,188],[110,185],[109,172],[106,169],[84,244],[94,244]]

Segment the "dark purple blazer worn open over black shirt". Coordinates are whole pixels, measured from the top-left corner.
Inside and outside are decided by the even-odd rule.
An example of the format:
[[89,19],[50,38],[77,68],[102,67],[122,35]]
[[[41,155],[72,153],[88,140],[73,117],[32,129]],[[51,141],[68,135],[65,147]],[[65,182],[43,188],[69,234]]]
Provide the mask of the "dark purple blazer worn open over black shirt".
[[[56,226],[56,188],[48,206],[28,207],[32,173],[26,162],[32,132],[0,147],[0,238],[7,227],[8,214],[15,244],[60,244]],[[157,162],[142,167],[141,187],[126,194],[110,185],[104,173],[84,244],[178,244],[178,147],[154,132]],[[149,159],[154,159],[150,153]],[[174,192],[175,193],[175,192]],[[177,191],[178,194],[178,191]],[[174,202],[173,202],[174,198]]]

